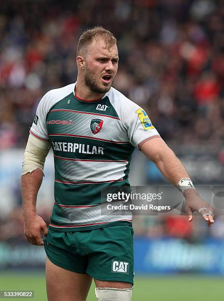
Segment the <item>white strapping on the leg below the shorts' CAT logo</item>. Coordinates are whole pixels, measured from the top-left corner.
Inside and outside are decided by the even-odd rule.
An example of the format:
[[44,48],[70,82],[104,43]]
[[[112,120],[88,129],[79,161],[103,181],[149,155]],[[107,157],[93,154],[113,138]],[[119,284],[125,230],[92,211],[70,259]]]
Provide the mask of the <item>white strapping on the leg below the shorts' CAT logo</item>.
[[131,301],[132,288],[96,288],[95,293],[98,301]]

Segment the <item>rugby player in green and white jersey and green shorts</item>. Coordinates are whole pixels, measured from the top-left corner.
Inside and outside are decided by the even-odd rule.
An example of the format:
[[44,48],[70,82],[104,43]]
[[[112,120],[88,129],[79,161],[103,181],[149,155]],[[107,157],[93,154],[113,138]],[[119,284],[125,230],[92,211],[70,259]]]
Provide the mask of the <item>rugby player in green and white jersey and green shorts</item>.
[[[189,221],[199,211],[208,226],[214,222],[211,208],[146,112],[112,88],[118,60],[110,31],[85,31],[77,46],[76,83],[47,92],[30,129],[22,175],[24,228],[31,244],[44,244],[49,301],[86,300],[92,278],[98,300],[131,300],[131,215],[101,215],[100,191],[129,185],[135,147],[183,192]],[[36,198],[50,146],[55,202],[48,229],[36,213]]]

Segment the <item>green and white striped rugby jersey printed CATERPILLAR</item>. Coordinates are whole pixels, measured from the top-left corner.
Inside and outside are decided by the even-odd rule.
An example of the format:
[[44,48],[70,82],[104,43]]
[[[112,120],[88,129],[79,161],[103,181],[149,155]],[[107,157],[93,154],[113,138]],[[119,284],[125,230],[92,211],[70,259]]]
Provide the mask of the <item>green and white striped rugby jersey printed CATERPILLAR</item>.
[[83,231],[130,224],[130,215],[102,215],[101,189],[128,186],[135,147],[160,137],[137,104],[111,88],[100,100],[84,101],[75,84],[41,99],[30,133],[50,141],[55,168],[50,228]]

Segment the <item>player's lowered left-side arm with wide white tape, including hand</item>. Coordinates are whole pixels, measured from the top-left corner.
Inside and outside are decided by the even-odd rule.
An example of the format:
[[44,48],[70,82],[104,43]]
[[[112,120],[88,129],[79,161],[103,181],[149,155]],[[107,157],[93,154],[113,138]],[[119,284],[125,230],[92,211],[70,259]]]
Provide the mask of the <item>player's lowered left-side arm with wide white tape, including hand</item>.
[[24,233],[27,241],[43,245],[41,231],[47,236],[48,230],[44,220],[36,214],[37,194],[43,180],[45,158],[49,152],[49,143],[43,143],[29,136],[25,150],[23,173],[21,178]]

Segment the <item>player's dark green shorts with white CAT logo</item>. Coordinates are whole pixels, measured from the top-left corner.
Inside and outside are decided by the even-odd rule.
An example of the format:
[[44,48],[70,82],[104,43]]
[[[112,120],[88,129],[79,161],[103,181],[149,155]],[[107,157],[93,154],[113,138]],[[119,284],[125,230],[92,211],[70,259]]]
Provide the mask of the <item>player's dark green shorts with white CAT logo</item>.
[[133,228],[110,226],[81,232],[48,230],[44,240],[50,261],[66,270],[102,281],[133,284]]

